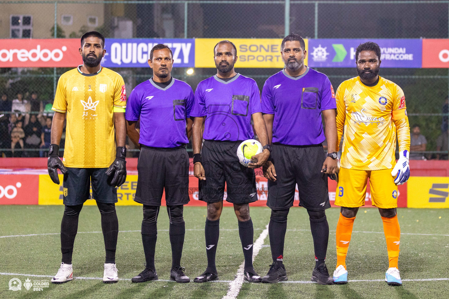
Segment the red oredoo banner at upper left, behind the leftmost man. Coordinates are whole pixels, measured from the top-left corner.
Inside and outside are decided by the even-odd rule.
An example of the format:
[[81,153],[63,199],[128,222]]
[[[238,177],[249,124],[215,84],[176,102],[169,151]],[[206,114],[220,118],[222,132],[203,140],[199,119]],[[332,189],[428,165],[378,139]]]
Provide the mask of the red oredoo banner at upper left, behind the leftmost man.
[[0,39],[0,66],[77,67],[79,39]]

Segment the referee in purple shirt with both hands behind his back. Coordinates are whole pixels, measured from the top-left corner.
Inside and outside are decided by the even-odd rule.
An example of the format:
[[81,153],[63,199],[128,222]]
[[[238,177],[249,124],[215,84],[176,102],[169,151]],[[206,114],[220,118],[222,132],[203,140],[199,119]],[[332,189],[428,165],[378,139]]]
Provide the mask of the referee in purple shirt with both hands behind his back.
[[[184,204],[189,202],[189,156],[185,145],[192,134],[189,113],[194,103],[192,88],[171,76],[172,50],[158,44],[151,49],[148,64],[154,77],[134,88],[128,99],[128,136],[141,152],[137,163],[137,189],[134,200],[143,204],[142,243],[146,267],[132,282],[157,280],[154,249],[157,221],[165,189],[172,269],[170,280],[189,282],[180,266],[184,244]],[[140,118],[140,131],[136,122]]]

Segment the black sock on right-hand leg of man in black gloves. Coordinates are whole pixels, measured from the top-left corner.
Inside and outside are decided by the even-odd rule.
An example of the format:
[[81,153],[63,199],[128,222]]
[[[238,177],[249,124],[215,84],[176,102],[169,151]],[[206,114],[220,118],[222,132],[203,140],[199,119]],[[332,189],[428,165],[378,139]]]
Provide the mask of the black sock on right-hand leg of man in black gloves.
[[97,206],[101,213],[101,230],[105,240],[105,264],[115,264],[115,251],[119,235],[119,220],[115,212],[115,204],[97,202]]

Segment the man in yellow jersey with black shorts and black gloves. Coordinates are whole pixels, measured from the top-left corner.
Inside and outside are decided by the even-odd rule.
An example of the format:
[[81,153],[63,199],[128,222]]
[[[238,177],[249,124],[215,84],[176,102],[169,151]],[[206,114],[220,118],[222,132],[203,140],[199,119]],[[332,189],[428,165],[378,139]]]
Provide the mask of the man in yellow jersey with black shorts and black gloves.
[[[85,33],[79,48],[83,65],[62,74],[57,84],[48,173],[56,184],[59,184],[57,169],[64,173],[65,210],[61,223],[62,263],[52,283],[73,279],[73,243],[79,212],[90,198],[91,182],[92,197],[97,200],[101,213],[106,249],[103,282],[119,279],[115,267],[119,233],[115,203],[116,187],[126,179],[126,91],[123,78],[100,65],[106,53],[104,45],[105,38],[100,33]],[[66,117],[66,143],[61,161],[58,144]]]

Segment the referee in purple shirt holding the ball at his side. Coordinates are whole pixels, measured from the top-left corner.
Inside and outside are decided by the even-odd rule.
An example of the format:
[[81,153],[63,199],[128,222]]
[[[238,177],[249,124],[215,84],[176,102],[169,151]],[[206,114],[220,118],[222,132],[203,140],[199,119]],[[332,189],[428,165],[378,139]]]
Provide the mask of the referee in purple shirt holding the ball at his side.
[[[204,229],[207,268],[194,282],[218,279],[215,254],[225,183],[226,200],[233,203],[238,219],[238,233],[245,257],[243,279],[260,282],[260,276],[252,264],[254,230],[248,205],[257,200],[254,168],[263,165],[270,156],[267,129],[260,105],[260,91],[253,79],[234,71],[237,49],[233,43],[227,40],[217,43],[214,47],[214,59],[217,74],[198,84],[194,108],[190,113],[190,116],[195,117],[194,175],[199,179],[198,197],[207,202]],[[238,160],[237,148],[242,141],[254,138],[251,118],[264,151],[252,157],[252,160],[257,160],[256,163],[245,167]],[[204,133],[201,134],[203,123]]]

